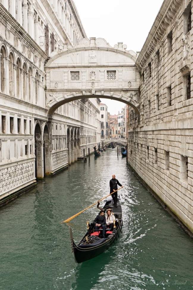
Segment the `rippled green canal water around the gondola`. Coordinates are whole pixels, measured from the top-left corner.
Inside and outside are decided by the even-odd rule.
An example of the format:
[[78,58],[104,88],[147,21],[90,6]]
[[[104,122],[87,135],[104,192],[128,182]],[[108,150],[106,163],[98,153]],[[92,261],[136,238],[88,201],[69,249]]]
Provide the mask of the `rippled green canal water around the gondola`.
[[[112,174],[119,191],[123,234],[102,255],[76,264],[68,226],[73,214],[109,193]],[[75,241],[91,208],[71,221]],[[164,211],[119,157],[109,149],[79,161],[0,210],[1,290],[193,289],[193,240]]]

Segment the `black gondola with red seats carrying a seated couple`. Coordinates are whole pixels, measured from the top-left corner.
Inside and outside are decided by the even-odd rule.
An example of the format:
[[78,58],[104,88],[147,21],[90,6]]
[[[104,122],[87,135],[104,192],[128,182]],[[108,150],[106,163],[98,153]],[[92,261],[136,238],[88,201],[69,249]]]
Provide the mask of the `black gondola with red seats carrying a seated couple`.
[[118,199],[117,207],[114,207],[112,202],[112,200],[106,202],[103,207],[104,210],[109,207],[112,208],[116,218],[113,231],[106,228],[106,238],[102,238],[102,229],[96,232],[94,230],[95,225],[93,222],[91,224],[87,222],[87,233],[81,239],[79,244],[76,245],[73,239],[72,229],[69,228],[72,252],[74,253],[74,258],[77,263],[82,263],[102,254],[114,243],[117,237],[120,236],[120,233],[122,233],[123,221],[120,201]]

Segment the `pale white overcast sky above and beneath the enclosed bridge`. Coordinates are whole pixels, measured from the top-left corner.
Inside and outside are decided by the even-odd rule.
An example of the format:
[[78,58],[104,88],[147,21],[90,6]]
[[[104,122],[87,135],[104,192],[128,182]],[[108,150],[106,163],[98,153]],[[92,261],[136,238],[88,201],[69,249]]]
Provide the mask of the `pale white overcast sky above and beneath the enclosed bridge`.
[[[140,51],[163,0],[74,0],[87,37],[102,37],[111,46]],[[101,99],[110,114],[124,107],[121,102]]]

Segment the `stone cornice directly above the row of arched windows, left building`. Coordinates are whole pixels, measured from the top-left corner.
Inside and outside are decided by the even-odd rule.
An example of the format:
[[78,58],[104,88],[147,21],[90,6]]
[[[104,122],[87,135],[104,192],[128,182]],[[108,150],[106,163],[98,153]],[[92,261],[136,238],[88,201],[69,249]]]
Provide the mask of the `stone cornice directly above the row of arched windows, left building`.
[[31,36],[23,29],[23,27],[15,20],[14,17],[7,11],[6,8],[0,3],[0,19],[3,20],[4,24],[7,23],[14,29],[15,35],[18,38],[22,37],[23,42],[32,49],[36,51],[44,60],[47,59],[47,54],[40,48],[40,46],[31,38]]

